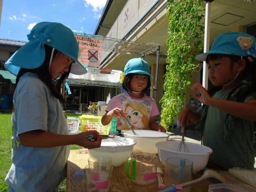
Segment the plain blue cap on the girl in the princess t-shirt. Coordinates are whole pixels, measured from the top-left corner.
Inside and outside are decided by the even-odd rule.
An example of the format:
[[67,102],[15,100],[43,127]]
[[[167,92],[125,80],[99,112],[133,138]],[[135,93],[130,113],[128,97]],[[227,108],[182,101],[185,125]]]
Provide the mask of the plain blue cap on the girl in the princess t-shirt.
[[130,59],[124,67],[124,76],[129,73],[144,74],[153,77],[150,74],[150,66],[141,58]]

